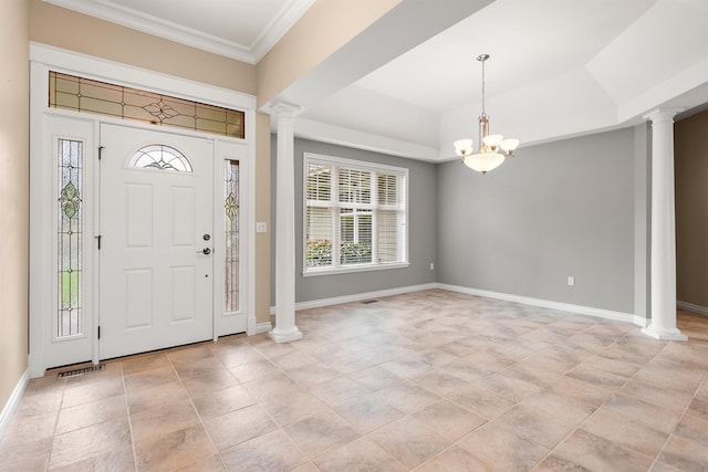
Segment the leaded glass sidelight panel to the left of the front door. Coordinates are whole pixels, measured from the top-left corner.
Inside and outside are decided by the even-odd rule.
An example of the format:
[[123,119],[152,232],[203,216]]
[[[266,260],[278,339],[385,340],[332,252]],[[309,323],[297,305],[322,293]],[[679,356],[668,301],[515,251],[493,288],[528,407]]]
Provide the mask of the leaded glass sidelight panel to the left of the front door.
[[82,166],[83,143],[59,139],[59,310],[56,337],[83,334],[82,287]]

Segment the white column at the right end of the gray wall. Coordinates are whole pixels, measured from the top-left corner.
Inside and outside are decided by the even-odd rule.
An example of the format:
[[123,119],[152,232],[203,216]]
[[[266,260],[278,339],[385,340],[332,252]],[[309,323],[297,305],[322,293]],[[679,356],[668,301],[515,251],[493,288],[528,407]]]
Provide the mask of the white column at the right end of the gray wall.
[[652,322],[642,333],[686,340],[676,327],[676,218],[674,202],[674,116],[656,109],[652,120]]

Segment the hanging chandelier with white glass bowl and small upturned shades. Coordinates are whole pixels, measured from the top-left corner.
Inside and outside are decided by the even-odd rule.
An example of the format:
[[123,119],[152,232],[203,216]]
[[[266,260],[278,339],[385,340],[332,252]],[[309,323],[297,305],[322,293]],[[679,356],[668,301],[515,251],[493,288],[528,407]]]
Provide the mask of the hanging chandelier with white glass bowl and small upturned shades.
[[[455,151],[462,158],[465,165],[482,174],[501,166],[506,156],[511,156],[519,146],[519,139],[504,139],[502,135],[489,134],[489,116],[485,113],[485,61],[488,59],[489,54],[477,56],[477,60],[482,63],[482,114],[479,115],[479,149],[475,153],[471,139],[455,141]],[[499,149],[502,153],[498,153]]]

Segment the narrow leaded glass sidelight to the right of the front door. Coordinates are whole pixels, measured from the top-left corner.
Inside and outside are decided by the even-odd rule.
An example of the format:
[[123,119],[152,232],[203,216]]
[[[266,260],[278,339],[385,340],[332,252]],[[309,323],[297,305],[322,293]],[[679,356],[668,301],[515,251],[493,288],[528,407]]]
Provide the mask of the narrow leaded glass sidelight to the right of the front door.
[[223,169],[226,242],[226,312],[239,310],[239,161],[226,160]]

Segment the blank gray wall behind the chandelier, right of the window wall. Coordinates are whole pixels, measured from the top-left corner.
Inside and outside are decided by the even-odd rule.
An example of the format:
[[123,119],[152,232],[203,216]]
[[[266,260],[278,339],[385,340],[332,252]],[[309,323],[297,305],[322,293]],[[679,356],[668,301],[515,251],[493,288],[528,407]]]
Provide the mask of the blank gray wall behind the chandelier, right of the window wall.
[[633,313],[635,158],[625,128],[439,165],[437,282]]

